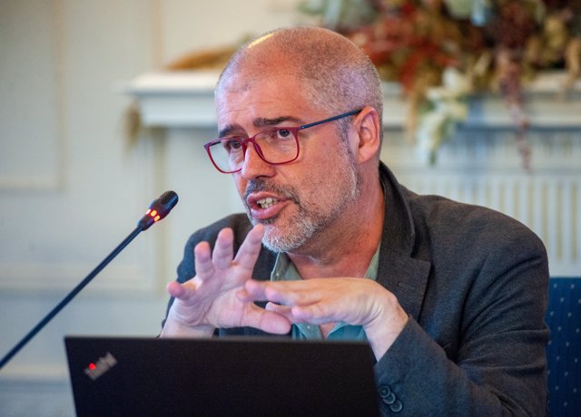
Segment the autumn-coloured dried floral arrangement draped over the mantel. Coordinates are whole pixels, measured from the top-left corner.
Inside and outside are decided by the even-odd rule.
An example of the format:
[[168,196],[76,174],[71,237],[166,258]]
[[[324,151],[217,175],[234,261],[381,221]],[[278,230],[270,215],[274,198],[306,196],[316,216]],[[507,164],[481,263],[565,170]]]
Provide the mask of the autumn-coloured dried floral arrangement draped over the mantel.
[[409,100],[407,131],[434,162],[468,114],[472,92],[499,92],[517,127],[523,165],[528,121],[522,85],[566,70],[581,75],[581,0],[303,0],[300,10],[349,37]]

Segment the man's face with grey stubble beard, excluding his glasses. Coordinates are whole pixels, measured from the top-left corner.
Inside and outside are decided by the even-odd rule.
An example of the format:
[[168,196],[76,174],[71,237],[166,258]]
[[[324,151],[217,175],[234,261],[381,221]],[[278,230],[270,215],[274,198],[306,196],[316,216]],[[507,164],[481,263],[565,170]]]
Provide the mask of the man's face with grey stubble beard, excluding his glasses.
[[[300,82],[289,75],[254,82],[238,75],[230,85],[216,99],[225,136],[250,137],[334,115],[310,107]],[[299,131],[299,142],[299,158],[284,165],[261,160],[249,144],[241,171],[232,174],[248,217],[266,226],[263,243],[274,251],[300,253],[316,245],[320,233],[359,197],[355,162],[340,140],[337,121]]]

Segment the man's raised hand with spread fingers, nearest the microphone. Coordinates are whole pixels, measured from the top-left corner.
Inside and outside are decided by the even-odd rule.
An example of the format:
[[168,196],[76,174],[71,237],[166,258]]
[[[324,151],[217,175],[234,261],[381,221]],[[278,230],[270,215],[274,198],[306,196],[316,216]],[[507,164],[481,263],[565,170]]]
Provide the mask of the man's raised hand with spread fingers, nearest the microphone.
[[236,257],[233,256],[234,235],[230,228],[220,231],[213,253],[208,242],[196,245],[197,275],[183,284],[173,281],[167,286],[174,301],[162,337],[210,336],[215,328],[243,326],[274,334],[286,334],[291,330],[291,323],[284,316],[236,296],[251,279],[263,234],[262,225],[252,228]]

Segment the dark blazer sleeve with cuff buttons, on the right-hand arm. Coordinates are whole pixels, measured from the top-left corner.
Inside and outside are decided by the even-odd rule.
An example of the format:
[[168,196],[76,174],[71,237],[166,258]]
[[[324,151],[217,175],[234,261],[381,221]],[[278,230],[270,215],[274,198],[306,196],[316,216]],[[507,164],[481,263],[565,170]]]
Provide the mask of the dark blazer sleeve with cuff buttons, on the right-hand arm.
[[383,415],[547,414],[546,249],[515,227],[480,252],[476,276],[458,284],[463,300],[438,294],[461,312],[456,338],[440,345],[424,317],[410,317],[375,365]]

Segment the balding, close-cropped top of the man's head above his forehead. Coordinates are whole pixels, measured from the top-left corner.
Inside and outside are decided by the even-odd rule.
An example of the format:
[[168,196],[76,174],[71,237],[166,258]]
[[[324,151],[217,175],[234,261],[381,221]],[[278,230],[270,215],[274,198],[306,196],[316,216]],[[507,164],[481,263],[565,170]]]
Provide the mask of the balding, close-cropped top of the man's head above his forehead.
[[329,114],[367,105],[381,115],[383,96],[373,63],[344,36],[318,27],[279,29],[242,46],[222,72],[216,98],[273,74],[296,77],[305,100]]

